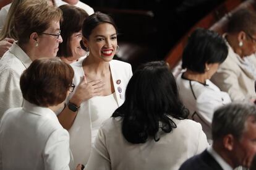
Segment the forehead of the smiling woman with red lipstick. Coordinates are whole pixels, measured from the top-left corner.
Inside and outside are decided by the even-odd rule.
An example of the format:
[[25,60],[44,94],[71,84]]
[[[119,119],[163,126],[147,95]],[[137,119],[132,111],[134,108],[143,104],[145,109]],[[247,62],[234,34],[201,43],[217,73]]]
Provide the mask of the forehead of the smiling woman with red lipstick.
[[108,36],[108,35],[113,35],[116,33],[116,29],[114,26],[110,23],[100,23],[100,25],[97,25],[93,30],[92,30],[92,36],[97,36],[97,35],[103,35],[103,36]]

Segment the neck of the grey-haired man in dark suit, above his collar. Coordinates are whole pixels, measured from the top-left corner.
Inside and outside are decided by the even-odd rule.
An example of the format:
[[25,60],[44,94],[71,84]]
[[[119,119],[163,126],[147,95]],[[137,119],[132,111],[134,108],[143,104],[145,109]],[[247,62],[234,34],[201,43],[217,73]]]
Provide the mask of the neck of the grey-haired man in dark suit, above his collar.
[[229,164],[229,166],[231,166],[233,169],[236,168],[236,165],[234,164],[234,161],[231,157],[232,153],[229,153],[228,150],[223,147],[223,145],[218,142],[213,142],[213,149],[216,151],[216,153],[218,153],[218,155],[221,156],[222,159],[224,159],[226,163]]

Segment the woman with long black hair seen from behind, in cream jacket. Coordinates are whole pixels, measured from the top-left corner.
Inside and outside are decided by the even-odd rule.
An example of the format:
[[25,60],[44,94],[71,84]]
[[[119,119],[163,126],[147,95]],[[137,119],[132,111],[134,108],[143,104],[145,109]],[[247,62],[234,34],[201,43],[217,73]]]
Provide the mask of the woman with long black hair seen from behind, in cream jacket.
[[124,104],[99,130],[86,169],[178,169],[208,146],[188,114],[166,63],[144,64],[130,79]]

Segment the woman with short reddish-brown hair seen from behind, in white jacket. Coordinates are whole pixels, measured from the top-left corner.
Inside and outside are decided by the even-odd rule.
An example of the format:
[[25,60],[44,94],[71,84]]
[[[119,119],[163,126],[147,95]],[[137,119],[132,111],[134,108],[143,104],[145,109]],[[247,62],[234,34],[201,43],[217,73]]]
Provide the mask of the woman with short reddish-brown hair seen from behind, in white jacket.
[[69,169],[69,134],[54,111],[73,90],[74,70],[58,59],[36,59],[20,77],[22,108],[0,122],[0,169]]

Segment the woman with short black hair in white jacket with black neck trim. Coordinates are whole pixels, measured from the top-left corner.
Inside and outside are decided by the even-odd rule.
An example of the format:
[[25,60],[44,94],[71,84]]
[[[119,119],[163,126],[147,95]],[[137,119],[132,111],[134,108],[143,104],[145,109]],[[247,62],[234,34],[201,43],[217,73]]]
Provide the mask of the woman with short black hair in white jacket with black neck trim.
[[186,70],[177,77],[181,100],[189,109],[190,118],[202,124],[208,139],[213,112],[231,102],[228,93],[209,80],[227,55],[228,47],[218,33],[198,28],[183,51],[182,69]]

